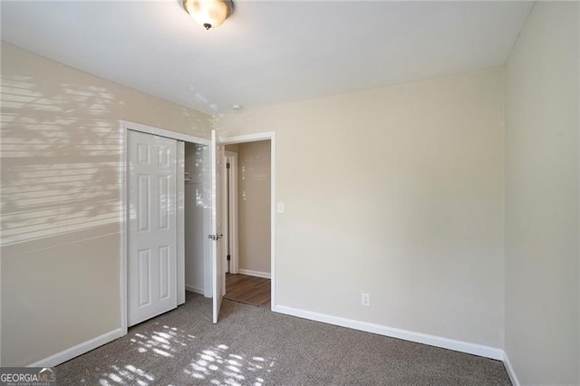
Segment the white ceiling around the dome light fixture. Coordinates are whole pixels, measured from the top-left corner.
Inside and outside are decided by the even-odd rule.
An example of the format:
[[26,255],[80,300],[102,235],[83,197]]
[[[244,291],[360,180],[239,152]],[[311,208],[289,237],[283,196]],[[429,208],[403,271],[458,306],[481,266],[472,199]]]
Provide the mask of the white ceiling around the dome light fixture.
[[205,31],[175,0],[2,1],[2,40],[201,111],[503,64],[532,3],[242,1]]

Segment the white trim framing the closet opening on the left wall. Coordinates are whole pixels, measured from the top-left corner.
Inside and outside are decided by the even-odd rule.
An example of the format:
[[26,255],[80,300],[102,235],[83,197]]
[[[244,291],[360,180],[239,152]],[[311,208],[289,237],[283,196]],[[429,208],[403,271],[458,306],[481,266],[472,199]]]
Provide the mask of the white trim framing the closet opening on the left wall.
[[[119,304],[121,307],[121,331],[122,335],[127,334],[128,330],[128,320],[127,320],[127,252],[128,252],[128,232],[127,227],[129,226],[129,189],[127,188],[128,176],[127,176],[127,165],[128,160],[127,156],[129,152],[127,151],[128,146],[128,131],[140,131],[148,134],[159,135],[160,137],[167,137],[174,140],[183,140],[186,142],[198,143],[200,145],[207,145],[211,144],[211,140],[195,137],[188,134],[181,134],[179,132],[171,131],[171,130],[163,130],[159,128],[155,128],[152,126],[143,125],[140,123],[135,123],[131,121],[119,121],[119,134],[120,134],[120,157],[119,157],[119,164],[121,165],[121,173],[119,182],[121,184],[120,188],[120,201],[121,201],[121,210],[119,214],[119,236],[120,236],[120,262],[119,262],[119,286],[120,286],[120,299]],[[185,216],[184,213],[178,214],[178,216]],[[179,230],[178,230],[179,233]],[[179,268],[178,268],[179,269]]]

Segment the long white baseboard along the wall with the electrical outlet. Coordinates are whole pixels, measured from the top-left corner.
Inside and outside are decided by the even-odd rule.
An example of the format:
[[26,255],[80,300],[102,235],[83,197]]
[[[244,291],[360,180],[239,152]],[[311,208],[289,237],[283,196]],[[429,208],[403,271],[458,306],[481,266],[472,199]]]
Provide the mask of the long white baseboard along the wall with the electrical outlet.
[[503,361],[505,353],[501,349],[484,346],[476,343],[456,341],[454,339],[443,338],[426,333],[414,333],[412,331],[401,330],[399,328],[387,327],[381,324],[367,323],[346,319],[343,317],[332,316],[328,314],[318,314],[311,311],[304,311],[297,308],[286,307],[285,305],[275,305],[276,313],[297,316],[299,318],[310,319],[316,322],[340,325],[342,327],[352,328],[367,333],[377,333],[379,335],[389,336],[391,338],[402,339],[405,341],[429,344],[443,349],[454,350],[456,352],[466,352],[473,355],[483,356],[486,358]]

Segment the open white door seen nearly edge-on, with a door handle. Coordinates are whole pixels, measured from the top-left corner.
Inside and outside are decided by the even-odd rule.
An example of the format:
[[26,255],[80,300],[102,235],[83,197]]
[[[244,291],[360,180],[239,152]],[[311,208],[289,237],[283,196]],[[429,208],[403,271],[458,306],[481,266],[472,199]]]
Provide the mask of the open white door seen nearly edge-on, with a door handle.
[[221,300],[226,293],[226,275],[224,274],[224,256],[222,247],[222,161],[224,159],[224,146],[218,143],[216,130],[211,130],[211,265],[212,265],[212,293],[213,293],[213,321],[218,323]]

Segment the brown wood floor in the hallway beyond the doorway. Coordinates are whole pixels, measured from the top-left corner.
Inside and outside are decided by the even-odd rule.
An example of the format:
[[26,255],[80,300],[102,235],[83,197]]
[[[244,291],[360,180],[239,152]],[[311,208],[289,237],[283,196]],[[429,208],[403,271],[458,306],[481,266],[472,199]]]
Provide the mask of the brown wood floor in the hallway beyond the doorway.
[[270,308],[270,279],[226,274],[226,299]]

